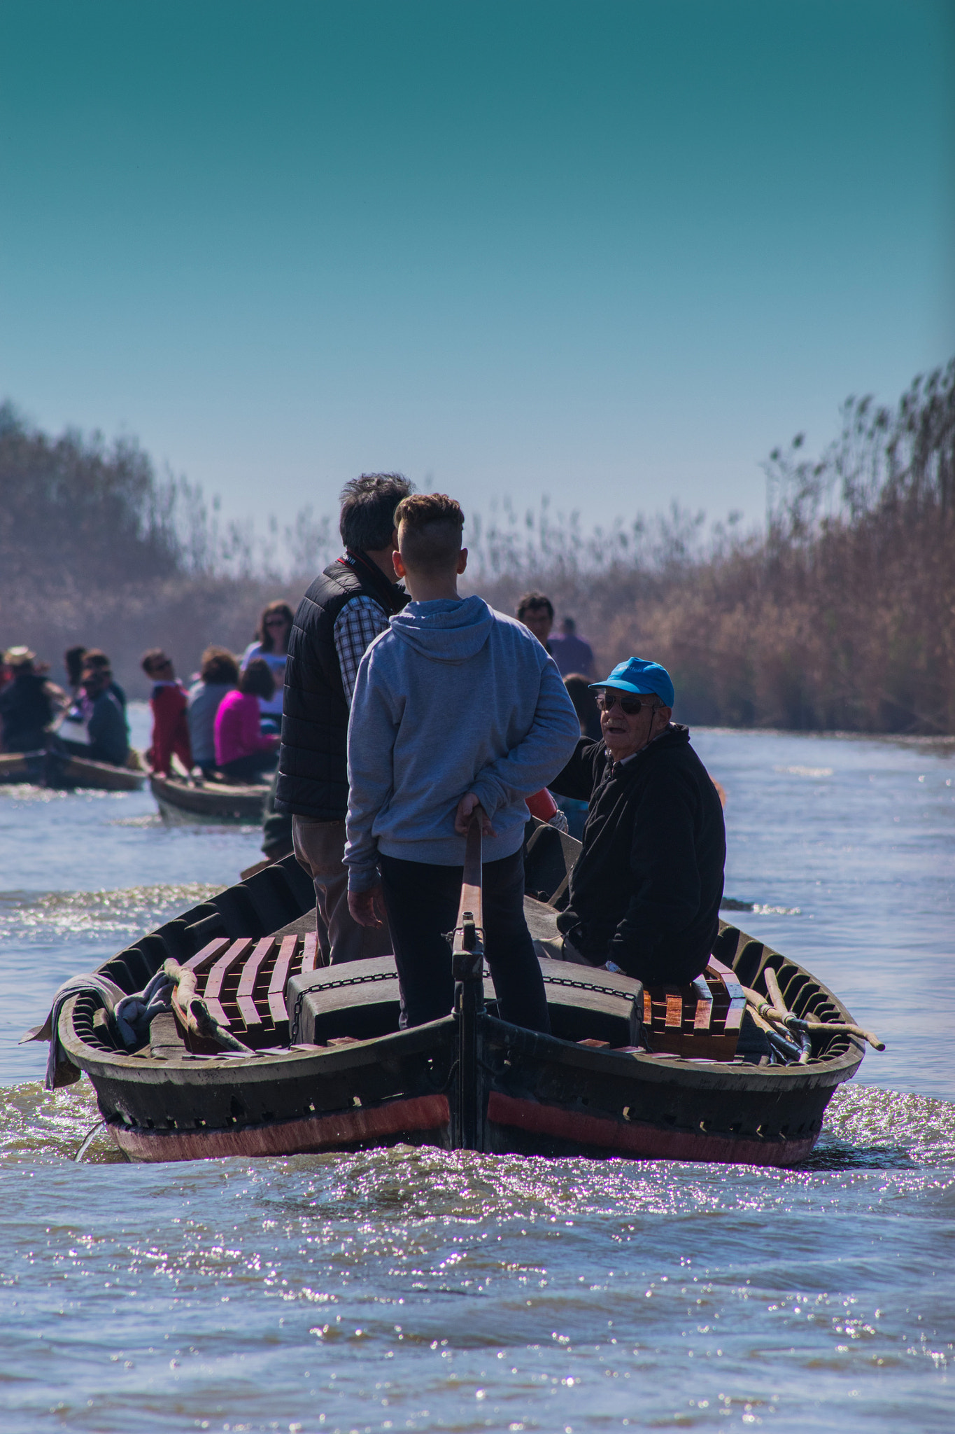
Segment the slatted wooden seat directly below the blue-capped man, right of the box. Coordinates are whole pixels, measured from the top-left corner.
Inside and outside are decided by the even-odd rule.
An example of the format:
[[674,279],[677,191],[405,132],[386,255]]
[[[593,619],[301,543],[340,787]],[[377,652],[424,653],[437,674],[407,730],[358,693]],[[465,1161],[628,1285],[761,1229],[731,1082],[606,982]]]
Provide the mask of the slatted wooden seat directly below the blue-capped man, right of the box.
[[730,1061],[746,1010],[730,967],[710,956],[706,974],[683,987],[644,987],[643,1021],[653,1051]]

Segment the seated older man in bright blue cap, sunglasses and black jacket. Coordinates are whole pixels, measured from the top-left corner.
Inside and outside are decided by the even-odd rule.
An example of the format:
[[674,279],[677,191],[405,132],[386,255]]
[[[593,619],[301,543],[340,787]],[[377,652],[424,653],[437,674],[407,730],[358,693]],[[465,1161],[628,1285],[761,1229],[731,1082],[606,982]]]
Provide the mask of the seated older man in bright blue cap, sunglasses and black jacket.
[[590,803],[557,918],[566,955],[611,961],[646,985],[679,985],[704,969],[719,929],[720,799],[689,730],[670,721],[666,668],[631,657],[591,685],[603,737],[581,737],[550,783]]

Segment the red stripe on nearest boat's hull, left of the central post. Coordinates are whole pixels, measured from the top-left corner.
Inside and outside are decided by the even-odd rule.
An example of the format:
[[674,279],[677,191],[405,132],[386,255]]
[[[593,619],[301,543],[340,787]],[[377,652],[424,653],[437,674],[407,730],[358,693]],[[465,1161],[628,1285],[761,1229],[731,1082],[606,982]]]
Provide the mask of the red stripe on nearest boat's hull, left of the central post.
[[142,1130],[110,1126],[130,1160],[212,1160],[222,1156],[292,1156],[338,1150],[388,1136],[437,1130],[451,1119],[447,1096],[415,1096],[369,1110],[282,1120],[275,1126],[236,1130]]

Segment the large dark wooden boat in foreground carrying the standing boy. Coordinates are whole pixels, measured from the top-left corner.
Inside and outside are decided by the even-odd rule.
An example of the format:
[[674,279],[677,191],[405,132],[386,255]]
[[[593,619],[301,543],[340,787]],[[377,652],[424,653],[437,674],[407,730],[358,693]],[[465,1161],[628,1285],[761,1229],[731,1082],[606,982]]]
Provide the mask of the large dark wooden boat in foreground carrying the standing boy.
[[[541,825],[528,836],[525,909],[531,931],[541,931],[580,846]],[[90,1077],[132,1160],[395,1141],[805,1160],[833,1090],[863,1054],[865,1032],[822,982],[722,923],[706,979],[689,988],[644,991],[607,969],[543,958],[553,1034],[508,1025],[484,972],[477,840],[475,859],[468,839],[454,941],[455,1010],[440,1021],[398,1030],[392,956],[321,965],[312,883],[286,858],[99,968],[135,992],[173,961],[165,968],[178,982],[172,1010],[153,1015],[137,1048],[123,1045],[94,989],[60,998],[59,1020],[33,1038],[59,1037],[57,1083]],[[753,1011],[776,1001],[793,1022],[792,1041],[772,1037],[776,1050],[789,1047],[785,1064],[773,1063],[757,1028],[772,1022]],[[799,1021],[806,1028],[796,1031]]]

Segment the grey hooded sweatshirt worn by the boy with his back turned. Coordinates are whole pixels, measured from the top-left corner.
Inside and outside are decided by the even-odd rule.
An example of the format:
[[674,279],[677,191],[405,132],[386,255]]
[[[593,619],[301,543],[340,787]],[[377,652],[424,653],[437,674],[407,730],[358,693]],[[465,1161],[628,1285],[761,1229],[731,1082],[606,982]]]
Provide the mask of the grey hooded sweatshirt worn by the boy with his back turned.
[[411,602],[365,652],[348,723],[352,891],[378,880],[378,853],[461,866],[454,813],[475,792],[495,835],[484,860],[524,840],[525,797],[580,740],[557,664],[527,628],[483,598]]

